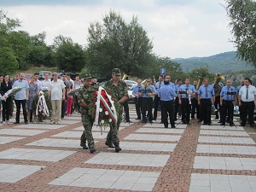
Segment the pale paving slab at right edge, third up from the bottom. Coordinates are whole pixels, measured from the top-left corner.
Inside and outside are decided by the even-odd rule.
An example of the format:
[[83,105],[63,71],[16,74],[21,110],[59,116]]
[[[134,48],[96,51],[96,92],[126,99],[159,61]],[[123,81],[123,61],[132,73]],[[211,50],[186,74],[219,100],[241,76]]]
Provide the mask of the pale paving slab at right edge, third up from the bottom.
[[236,145],[208,145],[198,144],[196,153],[209,154],[256,154],[256,147]]

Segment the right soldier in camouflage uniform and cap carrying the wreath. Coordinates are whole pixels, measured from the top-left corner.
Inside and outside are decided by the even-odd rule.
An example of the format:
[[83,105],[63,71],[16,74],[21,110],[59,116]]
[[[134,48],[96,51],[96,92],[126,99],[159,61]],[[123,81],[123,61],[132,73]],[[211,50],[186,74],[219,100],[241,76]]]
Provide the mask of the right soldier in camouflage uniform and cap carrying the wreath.
[[[118,137],[118,131],[119,126],[122,120],[122,114],[123,114],[123,102],[125,102],[126,99],[128,99],[128,91],[126,90],[127,84],[125,81],[121,80],[121,72],[119,68],[114,68],[112,70],[112,79],[109,80],[104,88],[107,91],[111,91],[111,95],[113,96],[114,102],[119,102],[119,111],[118,113],[118,121],[116,124],[113,123],[113,121],[109,124],[110,125],[110,131],[108,132],[106,145],[108,145],[109,148],[115,148],[115,152],[119,152],[121,148],[119,147],[119,137]],[[113,144],[112,144],[113,143]]]

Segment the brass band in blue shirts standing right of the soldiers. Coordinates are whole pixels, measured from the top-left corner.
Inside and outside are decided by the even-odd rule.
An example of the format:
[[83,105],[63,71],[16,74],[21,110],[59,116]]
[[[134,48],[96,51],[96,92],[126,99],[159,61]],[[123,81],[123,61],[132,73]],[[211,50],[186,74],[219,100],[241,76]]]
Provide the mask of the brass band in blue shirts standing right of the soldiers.
[[[194,81],[189,84],[190,79],[177,79],[175,84],[171,81],[171,76],[164,78],[159,76],[159,81],[152,84],[152,79],[146,81],[137,80],[137,85],[133,89],[137,119],[142,123],[153,123],[156,120],[157,110],[161,106],[160,123],[168,127],[168,117],[170,125],[175,128],[177,113],[181,114],[181,122],[190,124],[190,119],[198,119],[203,125],[212,125],[211,113],[212,105],[215,108],[215,119],[219,119],[220,125],[229,124],[234,126],[233,113],[234,106],[239,106],[241,126],[247,122],[254,126],[253,112],[255,108],[256,88],[250,79],[243,79],[237,88],[231,85],[231,80],[226,80],[226,85],[220,82],[219,77],[215,78],[214,84],[209,84],[208,79],[203,79],[199,84]],[[154,99],[153,99],[154,96]],[[152,106],[154,103],[154,113]],[[218,115],[219,113],[219,115]]]

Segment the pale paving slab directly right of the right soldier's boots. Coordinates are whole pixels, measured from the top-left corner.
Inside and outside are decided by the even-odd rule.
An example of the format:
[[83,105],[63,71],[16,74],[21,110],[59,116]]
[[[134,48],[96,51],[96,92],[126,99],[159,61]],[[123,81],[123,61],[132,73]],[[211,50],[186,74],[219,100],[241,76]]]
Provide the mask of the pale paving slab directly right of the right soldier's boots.
[[177,143],[120,142],[122,150],[172,152]]

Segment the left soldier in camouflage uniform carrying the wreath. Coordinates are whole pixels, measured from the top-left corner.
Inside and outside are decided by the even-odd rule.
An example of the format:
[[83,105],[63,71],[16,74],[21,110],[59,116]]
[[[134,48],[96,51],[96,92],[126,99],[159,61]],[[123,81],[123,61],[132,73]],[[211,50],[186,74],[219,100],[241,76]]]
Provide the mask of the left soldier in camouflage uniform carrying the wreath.
[[91,80],[92,77],[90,74],[86,74],[84,77],[84,87],[79,90],[79,105],[80,105],[80,113],[82,116],[82,123],[84,125],[84,132],[81,136],[81,143],[80,146],[84,149],[88,149],[86,146],[86,140],[88,142],[88,147],[90,149],[90,153],[93,154],[96,152],[95,145],[94,145],[94,139],[91,134],[92,125],[94,122],[94,119],[91,119],[88,115],[88,93],[87,90],[91,87]]

